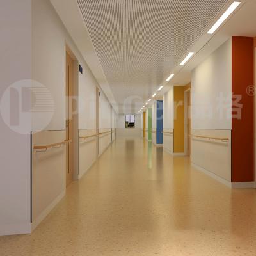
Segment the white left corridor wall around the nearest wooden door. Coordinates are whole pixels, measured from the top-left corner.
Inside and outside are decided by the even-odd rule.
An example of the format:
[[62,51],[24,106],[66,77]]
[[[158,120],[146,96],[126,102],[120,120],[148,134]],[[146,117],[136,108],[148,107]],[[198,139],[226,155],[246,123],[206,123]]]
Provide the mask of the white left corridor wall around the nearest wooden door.
[[[32,77],[33,80],[43,84],[49,92],[51,92],[54,101],[54,112],[46,112],[45,115],[40,116],[40,118],[38,118],[38,113],[35,113],[35,115],[33,115],[32,125],[33,131],[54,130],[54,137],[52,137],[51,132],[40,132],[40,134],[36,135],[36,141],[40,141],[40,145],[42,145],[43,137],[40,138],[40,136],[46,136],[44,141],[47,141],[47,143],[51,141],[52,143],[53,141],[60,142],[56,141],[56,138],[60,140],[60,138],[62,138],[60,134],[63,134],[63,130],[65,130],[66,44],[78,60],[78,63],[83,67],[83,74],[76,74],[78,76],[79,91],[79,129],[81,129],[79,133],[80,136],[95,134],[97,81],[93,77],[92,72],[90,72],[90,69],[86,65],[86,62],[79,53],[72,38],[70,38],[70,35],[67,33],[67,30],[49,0],[32,1],[32,25]],[[48,123],[46,122],[47,120],[49,120]],[[56,134],[57,132],[60,134]],[[36,141],[33,141],[33,143],[36,143]],[[79,169],[81,177],[96,160],[96,141],[93,140],[90,143],[80,144],[79,148],[79,158],[81,159]],[[57,161],[57,157],[60,158],[60,155],[54,154],[54,150],[49,150],[47,154],[51,156],[51,163]],[[33,152],[34,160],[37,159],[35,156],[36,153]],[[61,154],[61,157],[62,162],[65,163],[65,154]],[[58,161],[60,161],[59,158]],[[58,191],[56,191],[57,187],[49,189],[49,186],[47,186],[47,170],[49,170],[49,164],[47,165],[45,161],[36,161],[36,163],[33,161],[33,166],[33,172],[40,172],[34,175],[35,179],[33,182],[36,186],[33,184],[33,193],[35,193],[38,198],[45,198],[45,195],[47,195],[47,201],[44,202],[44,205],[33,205],[33,209],[40,209],[40,211],[36,211],[35,220],[33,220],[34,227],[34,223],[38,224],[40,220],[42,220],[42,217],[47,214],[45,211],[47,209],[51,210],[49,205],[52,205],[52,202],[58,203],[56,198],[60,198],[60,195],[65,193],[66,166],[63,164],[63,170],[58,170],[58,175],[51,176],[51,182],[53,184],[60,184],[60,182],[62,182],[60,186],[58,186]],[[55,173],[57,173],[56,170]],[[78,173],[76,173],[76,175],[77,174]],[[38,177],[38,179],[36,179],[36,177]],[[38,186],[38,184],[41,184],[41,186]],[[37,188],[44,188],[45,190],[40,189],[40,191],[37,191]],[[52,207],[53,206],[54,205],[52,205]]]

